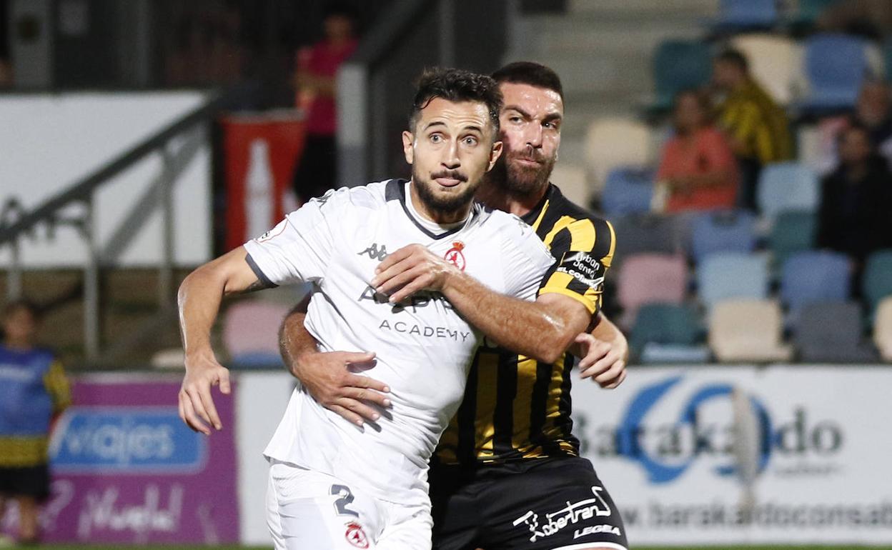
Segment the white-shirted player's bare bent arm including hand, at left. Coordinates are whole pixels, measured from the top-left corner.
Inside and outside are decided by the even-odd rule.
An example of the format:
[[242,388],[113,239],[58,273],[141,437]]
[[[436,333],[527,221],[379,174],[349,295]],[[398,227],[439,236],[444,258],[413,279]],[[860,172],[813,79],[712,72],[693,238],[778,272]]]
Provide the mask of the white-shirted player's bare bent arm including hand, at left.
[[211,326],[223,296],[264,288],[245,261],[244,247],[227,252],[190,273],[179,287],[179,325],[186,351],[186,376],[179,391],[179,416],[194,431],[222,429],[211,386],[229,393],[229,371],[211,349]]

